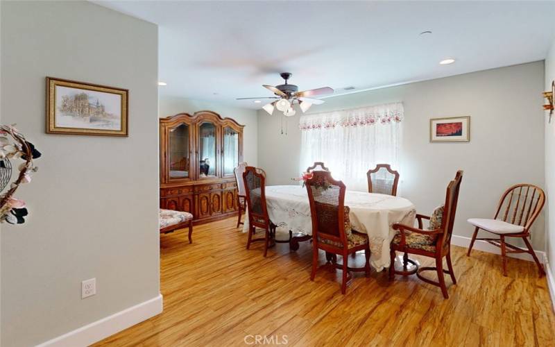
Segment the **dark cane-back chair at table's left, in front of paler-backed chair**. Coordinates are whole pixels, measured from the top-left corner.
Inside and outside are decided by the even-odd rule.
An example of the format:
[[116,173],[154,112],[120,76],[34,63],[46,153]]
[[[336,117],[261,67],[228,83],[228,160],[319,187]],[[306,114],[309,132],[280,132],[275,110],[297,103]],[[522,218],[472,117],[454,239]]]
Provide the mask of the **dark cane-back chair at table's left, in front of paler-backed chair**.
[[[268,247],[273,246],[275,237],[275,226],[271,223],[266,208],[266,175],[262,169],[246,167],[243,180],[248,208],[247,249],[252,242],[264,241],[264,257],[266,257]],[[253,238],[257,227],[264,229],[264,237]]]

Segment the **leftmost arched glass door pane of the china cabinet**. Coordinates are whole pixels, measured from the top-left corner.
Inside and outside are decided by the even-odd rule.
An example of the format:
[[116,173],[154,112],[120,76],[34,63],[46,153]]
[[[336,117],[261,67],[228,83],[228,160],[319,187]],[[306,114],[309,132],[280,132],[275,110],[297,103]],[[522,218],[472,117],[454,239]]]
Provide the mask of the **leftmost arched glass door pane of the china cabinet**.
[[189,178],[189,126],[180,124],[169,129],[169,178]]

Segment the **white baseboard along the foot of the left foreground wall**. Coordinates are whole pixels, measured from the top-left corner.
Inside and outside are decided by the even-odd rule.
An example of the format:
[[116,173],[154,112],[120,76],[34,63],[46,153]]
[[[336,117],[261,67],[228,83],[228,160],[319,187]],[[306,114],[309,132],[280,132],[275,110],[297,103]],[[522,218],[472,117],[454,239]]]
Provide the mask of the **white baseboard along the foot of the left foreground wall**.
[[116,332],[125,330],[130,326],[162,313],[162,307],[162,294],[158,294],[155,298],[151,298],[150,300],[139,303],[133,307],[129,307],[126,310],[116,312],[111,316],[100,319],[99,321],[67,332],[64,335],[46,341],[39,346],[89,346],[94,344],[94,342],[114,335]]

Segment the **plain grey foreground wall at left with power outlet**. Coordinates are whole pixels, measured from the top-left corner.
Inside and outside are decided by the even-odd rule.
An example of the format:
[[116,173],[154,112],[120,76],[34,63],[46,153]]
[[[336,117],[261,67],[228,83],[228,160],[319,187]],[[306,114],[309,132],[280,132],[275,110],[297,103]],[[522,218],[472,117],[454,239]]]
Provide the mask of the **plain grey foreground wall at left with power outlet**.
[[[2,1],[1,71],[1,121],[43,153],[17,194],[27,223],[1,230],[0,343],[31,346],[160,292],[157,26],[85,1]],[[127,88],[129,137],[46,135],[45,76]]]

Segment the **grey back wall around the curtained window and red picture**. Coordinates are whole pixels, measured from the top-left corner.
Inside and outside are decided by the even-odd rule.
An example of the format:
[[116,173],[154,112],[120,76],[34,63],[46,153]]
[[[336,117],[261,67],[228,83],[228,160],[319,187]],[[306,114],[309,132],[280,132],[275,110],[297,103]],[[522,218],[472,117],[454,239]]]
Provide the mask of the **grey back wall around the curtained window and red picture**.
[[[491,218],[504,190],[515,183],[544,184],[541,92],[543,62],[533,62],[432,81],[326,99],[311,112],[404,103],[400,194],[419,212],[445,199],[445,187],[463,169],[454,233],[470,237],[470,217]],[[298,112],[300,113],[300,112]],[[429,143],[429,119],[471,116],[470,142]],[[280,117],[259,111],[258,164],[268,184],[291,184],[300,174],[299,116],[280,135]],[[533,246],[544,249],[543,216],[533,230]]]

